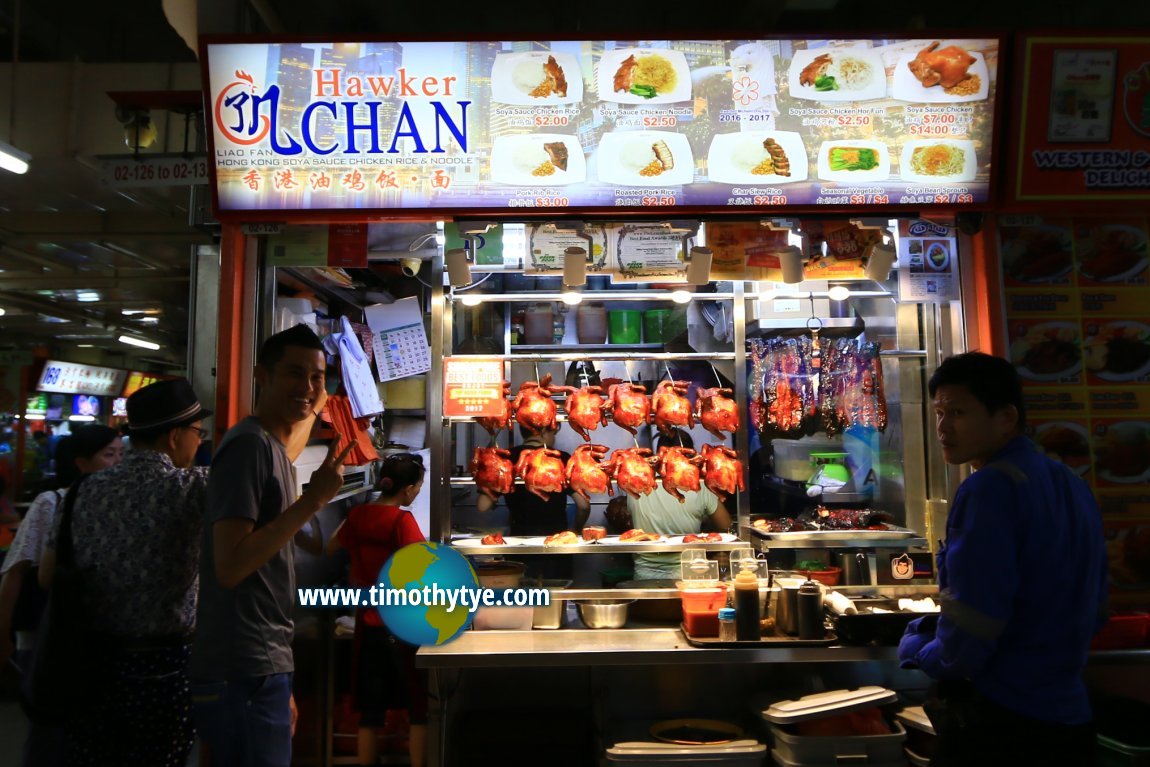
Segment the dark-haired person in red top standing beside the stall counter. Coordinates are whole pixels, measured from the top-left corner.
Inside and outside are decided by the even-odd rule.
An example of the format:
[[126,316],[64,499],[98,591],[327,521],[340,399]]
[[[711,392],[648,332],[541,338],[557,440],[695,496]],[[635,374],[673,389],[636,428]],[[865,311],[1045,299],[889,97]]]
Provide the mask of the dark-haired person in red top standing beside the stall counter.
[[[413,453],[389,455],[379,467],[378,498],[347,512],[331,535],[329,553],[351,554],[351,585],[367,589],[379,582],[388,559],[407,544],[425,540],[409,506],[423,486],[423,459]],[[427,757],[427,672],[415,668],[416,647],[392,636],[374,607],[355,613],[355,707],[360,713],[358,758],[376,764],[377,734],[389,708],[407,708],[411,721],[408,753],[412,767]]]

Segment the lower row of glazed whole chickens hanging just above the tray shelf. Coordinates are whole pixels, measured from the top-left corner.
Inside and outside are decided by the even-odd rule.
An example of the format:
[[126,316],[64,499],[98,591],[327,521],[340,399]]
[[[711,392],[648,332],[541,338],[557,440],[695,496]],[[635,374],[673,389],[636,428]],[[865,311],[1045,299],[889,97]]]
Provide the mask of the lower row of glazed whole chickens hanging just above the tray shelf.
[[606,445],[586,444],[576,447],[566,465],[562,454],[550,447],[523,450],[514,465],[506,448],[476,447],[470,470],[478,491],[492,499],[511,492],[515,477],[544,500],[568,488],[588,500],[590,493],[612,496],[612,482],[639,498],[656,489],[657,474],[662,489],[681,504],[685,500],[682,491],[698,491],[700,482],[722,500],[744,490],[738,453],[723,445],[704,445],[702,453],[662,446],[658,455],[650,447],[623,447],[608,459]]

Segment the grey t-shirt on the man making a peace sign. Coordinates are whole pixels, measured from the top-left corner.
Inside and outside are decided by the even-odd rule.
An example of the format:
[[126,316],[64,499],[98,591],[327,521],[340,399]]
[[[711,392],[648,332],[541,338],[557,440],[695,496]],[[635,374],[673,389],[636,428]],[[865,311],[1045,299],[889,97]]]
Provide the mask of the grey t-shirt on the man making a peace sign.
[[229,429],[208,475],[193,680],[216,682],[293,670],[293,544],[235,589],[224,589],[215,577],[212,529],[224,519],[252,520],[261,528],[294,500],[294,469],[279,440],[254,417]]

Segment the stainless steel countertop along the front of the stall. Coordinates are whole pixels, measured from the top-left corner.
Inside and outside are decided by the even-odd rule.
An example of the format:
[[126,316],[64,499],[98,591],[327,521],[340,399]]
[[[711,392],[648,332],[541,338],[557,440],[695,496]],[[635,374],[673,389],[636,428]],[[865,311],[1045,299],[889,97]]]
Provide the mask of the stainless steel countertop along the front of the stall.
[[505,666],[658,666],[664,664],[795,664],[895,660],[897,647],[702,649],[677,628],[465,631],[438,647],[421,647],[421,668]]

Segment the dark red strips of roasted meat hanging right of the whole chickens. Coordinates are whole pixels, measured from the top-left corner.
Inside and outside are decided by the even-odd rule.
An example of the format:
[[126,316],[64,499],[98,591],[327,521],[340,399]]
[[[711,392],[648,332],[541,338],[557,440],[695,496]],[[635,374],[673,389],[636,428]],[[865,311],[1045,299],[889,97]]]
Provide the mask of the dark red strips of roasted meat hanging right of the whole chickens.
[[852,425],[887,428],[880,345],[857,338],[751,339],[751,424],[764,436],[797,438]]

